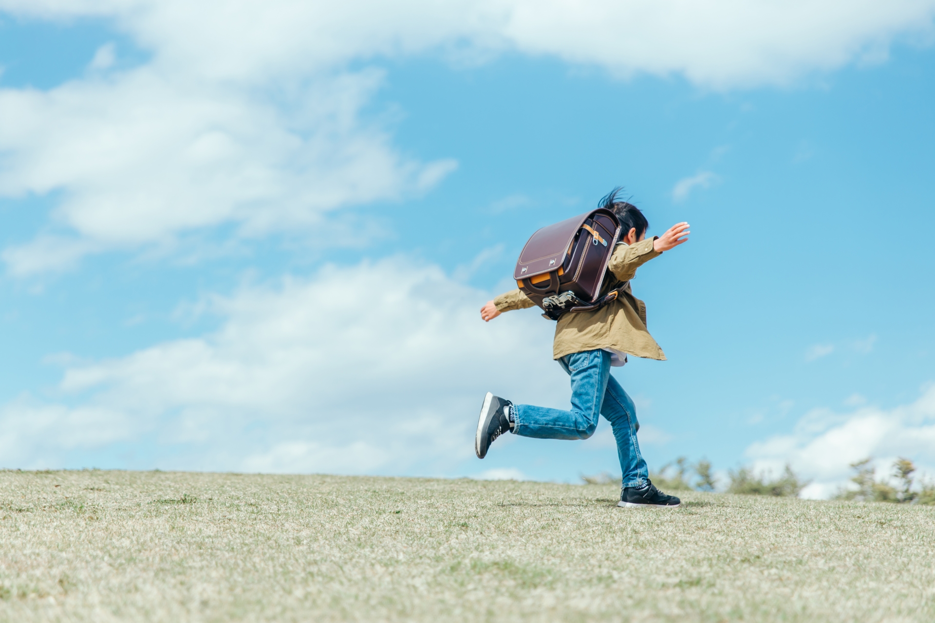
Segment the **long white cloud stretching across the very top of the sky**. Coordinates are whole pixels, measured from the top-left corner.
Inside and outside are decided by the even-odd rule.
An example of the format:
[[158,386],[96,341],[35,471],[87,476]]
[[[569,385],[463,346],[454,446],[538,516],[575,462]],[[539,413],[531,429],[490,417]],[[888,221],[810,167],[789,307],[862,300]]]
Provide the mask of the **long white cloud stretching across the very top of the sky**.
[[[803,72],[885,59],[899,35],[931,34],[930,1],[661,0],[0,0],[15,14],[113,18],[161,61],[223,79],[441,48],[558,56],[627,75],[683,74],[724,88],[785,83]],[[466,52],[465,48],[468,48]]]

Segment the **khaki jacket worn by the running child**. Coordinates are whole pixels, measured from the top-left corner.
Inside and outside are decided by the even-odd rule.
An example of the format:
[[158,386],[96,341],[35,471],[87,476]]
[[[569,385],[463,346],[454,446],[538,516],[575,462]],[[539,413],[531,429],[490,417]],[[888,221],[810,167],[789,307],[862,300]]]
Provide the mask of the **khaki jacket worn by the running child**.
[[[646,238],[633,245],[617,245],[607,266],[611,275],[605,277],[600,290],[601,295],[632,279],[637,273],[637,268],[660,255],[653,249],[654,240],[655,237]],[[494,299],[494,304],[501,312],[535,306],[523,291],[518,289],[500,294]],[[555,326],[554,359],[598,348],[626,352],[634,357],[666,359],[662,348],[646,330],[646,305],[633,296],[629,283],[626,283],[615,301],[600,309],[564,314],[558,319]]]

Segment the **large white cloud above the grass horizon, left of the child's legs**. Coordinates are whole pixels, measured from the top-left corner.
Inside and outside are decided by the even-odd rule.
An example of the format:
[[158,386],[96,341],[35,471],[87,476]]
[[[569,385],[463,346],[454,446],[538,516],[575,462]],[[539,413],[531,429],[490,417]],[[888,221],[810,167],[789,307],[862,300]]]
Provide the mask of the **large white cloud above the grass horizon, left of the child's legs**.
[[0,457],[56,467],[119,446],[164,469],[449,473],[473,456],[485,391],[568,401],[554,324],[484,323],[487,298],[401,258],[210,297],[217,332],[72,363],[58,404],[0,409]]

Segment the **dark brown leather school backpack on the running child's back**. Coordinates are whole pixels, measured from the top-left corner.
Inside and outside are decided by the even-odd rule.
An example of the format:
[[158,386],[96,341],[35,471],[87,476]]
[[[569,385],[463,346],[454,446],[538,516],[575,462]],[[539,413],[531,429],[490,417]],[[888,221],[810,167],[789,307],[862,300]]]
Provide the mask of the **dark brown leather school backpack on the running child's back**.
[[526,242],[513,278],[548,319],[608,304],[618,291],[600,296],[600,287],[620,229],[604,208],[543,227]]

